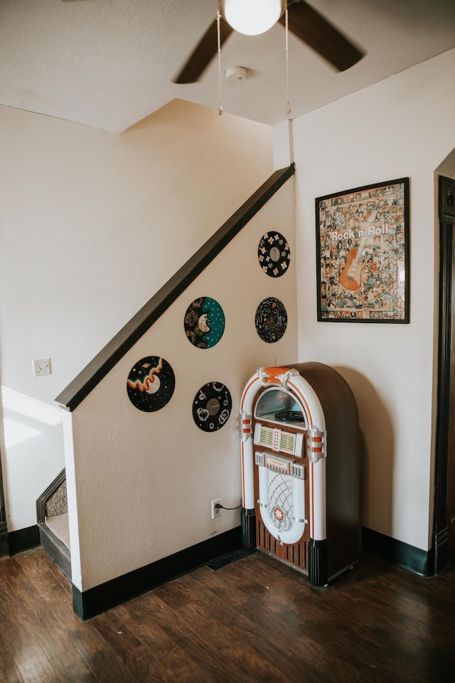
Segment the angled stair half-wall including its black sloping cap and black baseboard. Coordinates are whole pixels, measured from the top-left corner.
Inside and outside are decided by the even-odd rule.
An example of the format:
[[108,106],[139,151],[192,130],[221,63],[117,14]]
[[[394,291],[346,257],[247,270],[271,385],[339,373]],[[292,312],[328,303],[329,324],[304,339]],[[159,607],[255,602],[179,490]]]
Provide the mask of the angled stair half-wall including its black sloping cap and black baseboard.
[[[258,366],[296,359],[293,174],[293,165],[276,171],[56,399],[65,408],[73,595],[82,618],[129,594],[112,588],[122,577],[150,588],[163,581],[161,570],[151,578],[162,563],[172,578],[240,542],[240,511],[212,520],[210,501],[240,502],[245,382]],[[282,277],[269,277],[259,262],[259,241],[269,231],[290,245]],[[185,335],[185,312],[198,297],[213,297],[225,315],[224,334],[210,349]],[[277,343],[267,343],[255,313],[274,298],[286,307],[287,327]],[[129,372],[146,356],[163,357],[175,375],[171,400],[153,412],[137,410],[127,396]],[[232,411],[223,429],[206,433],[192,407],[211,382],[228,388]]]

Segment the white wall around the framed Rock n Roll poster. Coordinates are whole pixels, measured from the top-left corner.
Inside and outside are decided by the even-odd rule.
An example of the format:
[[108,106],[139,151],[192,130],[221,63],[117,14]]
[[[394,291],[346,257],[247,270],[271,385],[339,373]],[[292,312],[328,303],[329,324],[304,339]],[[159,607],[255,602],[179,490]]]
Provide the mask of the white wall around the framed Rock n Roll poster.
[[[433,510],[439,258],[434,171],[454,147],[454,68],[455,51],[449,51],[293,125],[299,361],[335,366],[357,398],[363,524],[421,549],[429,548]],[[314,198],[405,176],[410,324],[316,322]]]

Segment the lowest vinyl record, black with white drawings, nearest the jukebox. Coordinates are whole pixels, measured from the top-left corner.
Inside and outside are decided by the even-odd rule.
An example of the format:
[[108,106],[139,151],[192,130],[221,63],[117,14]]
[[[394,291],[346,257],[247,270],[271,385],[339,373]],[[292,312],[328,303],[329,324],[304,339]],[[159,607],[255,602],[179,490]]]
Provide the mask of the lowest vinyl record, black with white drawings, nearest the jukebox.
[[204,432],[215,432],[227,422],[232,408],[228,387],[220,382],[201,386],[193,401],[193,420]]

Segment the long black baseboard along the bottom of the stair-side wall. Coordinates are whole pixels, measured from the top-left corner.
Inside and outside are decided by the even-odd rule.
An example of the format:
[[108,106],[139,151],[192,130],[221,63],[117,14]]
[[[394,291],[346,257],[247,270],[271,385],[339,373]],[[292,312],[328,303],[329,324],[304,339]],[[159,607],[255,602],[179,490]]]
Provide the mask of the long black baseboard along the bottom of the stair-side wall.
[[220,555],[231,552],[242,545],[242,527],[225,531],[196,546],[186,548],[176,554],[130,571],[112,581],[79,591],[73,586],[73,609],[77,616],[84,620],[105,612],[115,605],[124,603],[136,595],[151,591],[162,583],[192,571]]

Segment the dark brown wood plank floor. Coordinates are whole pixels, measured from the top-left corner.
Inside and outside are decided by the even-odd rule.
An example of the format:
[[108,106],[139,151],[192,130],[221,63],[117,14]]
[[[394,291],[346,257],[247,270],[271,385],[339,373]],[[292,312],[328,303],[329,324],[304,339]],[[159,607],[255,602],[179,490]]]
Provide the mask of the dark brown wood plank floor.
[[455,569],[374,556],[333,586],[256,553],[81,622],[38,548],[0,560],[0,681],[455,682]]

